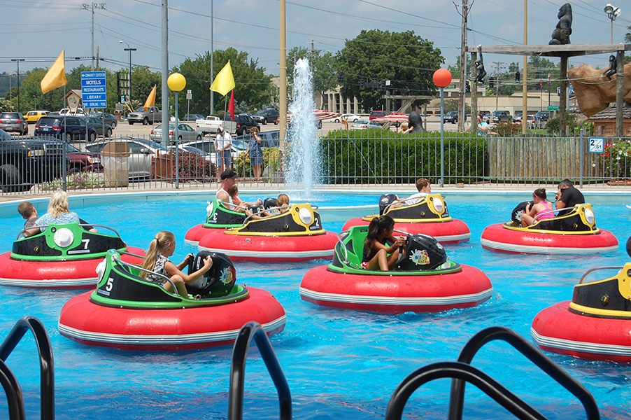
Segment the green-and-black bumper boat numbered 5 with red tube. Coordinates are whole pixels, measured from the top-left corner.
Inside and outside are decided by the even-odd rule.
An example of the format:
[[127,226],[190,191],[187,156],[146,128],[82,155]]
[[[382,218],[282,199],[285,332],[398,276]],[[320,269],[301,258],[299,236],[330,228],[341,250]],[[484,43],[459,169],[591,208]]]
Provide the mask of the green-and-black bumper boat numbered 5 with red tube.
[[[202,264],[198,253],[189,272]],[[187,284],[196,297],[182,297],[144,281],[141,268],[109,251],[96,290],[73,297],[59,315],[59,332],[92,346],[139,351],[175,351],[232,344],[249,321],[268,335],[285,328],[285,310],[265,290],[235,283],[226,255],[212,255],[206,276]],[[165,281],[169,281],[166,277]],[[175,290],[175,289],[173,289]]]

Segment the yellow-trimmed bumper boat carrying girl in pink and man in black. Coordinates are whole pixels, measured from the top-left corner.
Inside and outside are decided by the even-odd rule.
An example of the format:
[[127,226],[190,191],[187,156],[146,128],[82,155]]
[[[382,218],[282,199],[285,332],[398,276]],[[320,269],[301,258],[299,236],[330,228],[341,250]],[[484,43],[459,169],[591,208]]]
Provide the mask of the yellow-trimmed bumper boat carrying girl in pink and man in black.
[[[567,210],[559,209],[556,211]],[[509,223],[487,226],[482,232],[483,248],[511,253],[590,254],[618,249],[618,239],[596,227],[591,204],[576,204],[569,213],[522,228],[517,208]]]

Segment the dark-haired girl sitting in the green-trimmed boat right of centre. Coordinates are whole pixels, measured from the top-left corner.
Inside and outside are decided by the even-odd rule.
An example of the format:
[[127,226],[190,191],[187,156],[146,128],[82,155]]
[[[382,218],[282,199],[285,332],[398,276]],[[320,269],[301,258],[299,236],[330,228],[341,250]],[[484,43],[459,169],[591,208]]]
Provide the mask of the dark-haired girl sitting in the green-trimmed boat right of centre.
[[[405,238],[395,238],[395,221],[390,216],[379,216],[370,221],[368,235],[364,240],[362,267],[388,271],[399,259],[399,247],[405,246]],[[391,246],[386,245],[388,242]]]

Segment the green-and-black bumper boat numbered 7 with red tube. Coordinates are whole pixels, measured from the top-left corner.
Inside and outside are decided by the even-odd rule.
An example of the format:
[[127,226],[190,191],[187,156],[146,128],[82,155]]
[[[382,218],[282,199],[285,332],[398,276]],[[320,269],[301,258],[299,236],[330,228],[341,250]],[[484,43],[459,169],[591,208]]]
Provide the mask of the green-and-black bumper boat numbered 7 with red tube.
[[[78,223],[51,224],[44,232],[13,242],[13,250],[0,254],[0,284],[32,288],[92,288],[97,284],[97,265],[109,249],[144,255],[141,248],[127,247],[115,230],[90,232]],[[125,255],[125,261],[142,258]]]

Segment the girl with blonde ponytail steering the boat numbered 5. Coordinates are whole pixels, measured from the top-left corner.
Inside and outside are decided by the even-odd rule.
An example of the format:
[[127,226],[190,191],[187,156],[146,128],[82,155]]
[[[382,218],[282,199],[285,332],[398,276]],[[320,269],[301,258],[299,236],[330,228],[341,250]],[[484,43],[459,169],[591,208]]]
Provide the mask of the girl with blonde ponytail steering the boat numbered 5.
[[[178,289],[178,295],[188,298],[188,292],[186,290],[185,283],[190,283],[199,279],[204,273],[206,273],[213,266],[213,259],[210,255],[204,258],[204,265],[201,266],[196,272],[192,274],[185,274],[182,269],[194,258],[193,254],[186,255],[183,262],[178,265],[173,264],[169,257],[173,255],[173,251],[176,249],[176,237],[173,233],[166,230],[157,232],[153,241],[149,245],[149,251],[145,256],[145,262],[143,262],[143,268],[148,269],[156,274],[162,274],[167,276],[173,281]],[[171,283],[164,281],[161,276],[153,276],[147,272],[141,272],[141,277],[150,281],[151,283],[159,284],[169,292],[173,292]]]

